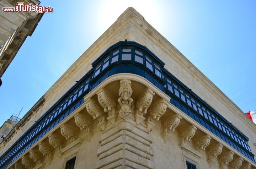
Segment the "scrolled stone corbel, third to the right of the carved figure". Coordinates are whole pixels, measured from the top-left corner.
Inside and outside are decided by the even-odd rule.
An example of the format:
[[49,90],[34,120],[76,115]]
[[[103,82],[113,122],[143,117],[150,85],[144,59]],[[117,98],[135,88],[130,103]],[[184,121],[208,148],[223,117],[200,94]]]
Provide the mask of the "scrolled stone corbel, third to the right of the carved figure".
[[180,124],[181,116],[178,114],[172,115],[162,120],[162,137],[164,141],[170,140],[173,137],[175,128]]

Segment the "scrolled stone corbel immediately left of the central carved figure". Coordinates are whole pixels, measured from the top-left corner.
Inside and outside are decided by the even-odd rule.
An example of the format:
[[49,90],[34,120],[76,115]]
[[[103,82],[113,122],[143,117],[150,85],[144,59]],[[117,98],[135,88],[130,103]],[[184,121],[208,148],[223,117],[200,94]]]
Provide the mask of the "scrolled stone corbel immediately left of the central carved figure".
[[96,94],[98,95],[98,102],[103,107],[104,112],[108,113],[107,120],[114,124],[117,118],[117,104],[114,101],[114,97],[105,89],[100,89]]

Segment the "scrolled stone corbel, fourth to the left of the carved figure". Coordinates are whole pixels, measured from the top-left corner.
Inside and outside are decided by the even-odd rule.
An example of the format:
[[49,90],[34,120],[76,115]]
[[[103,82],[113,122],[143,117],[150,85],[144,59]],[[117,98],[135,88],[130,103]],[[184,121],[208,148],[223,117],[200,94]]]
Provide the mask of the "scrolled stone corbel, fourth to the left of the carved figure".
[[70,140],[70,143],[74,142],[78,138],[78,132],[67,124],[60,126],[60,133],[66,138],[66,140]]

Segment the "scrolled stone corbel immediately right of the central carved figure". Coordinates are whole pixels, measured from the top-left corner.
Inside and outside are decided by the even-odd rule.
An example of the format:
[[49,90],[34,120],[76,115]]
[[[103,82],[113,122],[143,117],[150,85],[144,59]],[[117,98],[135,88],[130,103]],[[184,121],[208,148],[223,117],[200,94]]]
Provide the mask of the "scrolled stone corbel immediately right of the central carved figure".
[[137,100],[136,112],[134,116],[137,125],[145,120],[144,115],[146,115],[154,95],[155,93],[153,91],[151,91],[150,89],[146,89],[146,91]]

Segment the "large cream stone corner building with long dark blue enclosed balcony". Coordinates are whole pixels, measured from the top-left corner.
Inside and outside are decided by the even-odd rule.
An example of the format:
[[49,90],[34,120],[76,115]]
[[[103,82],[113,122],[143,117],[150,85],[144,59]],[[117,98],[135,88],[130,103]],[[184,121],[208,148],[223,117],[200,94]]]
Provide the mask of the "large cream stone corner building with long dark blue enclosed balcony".
[[256,168],[256,125],[131,7],[17,126],[0,168]]

